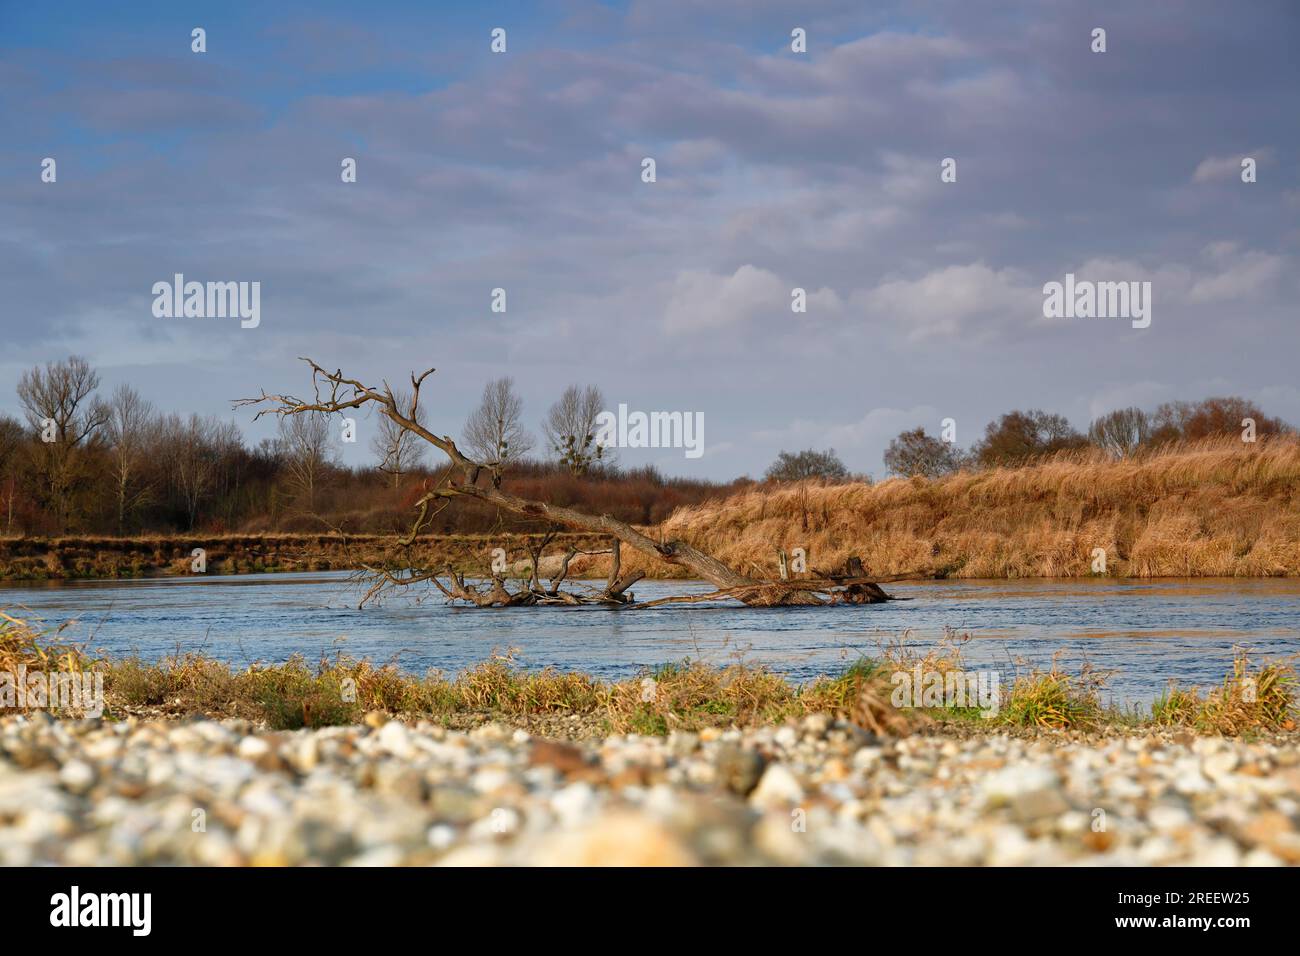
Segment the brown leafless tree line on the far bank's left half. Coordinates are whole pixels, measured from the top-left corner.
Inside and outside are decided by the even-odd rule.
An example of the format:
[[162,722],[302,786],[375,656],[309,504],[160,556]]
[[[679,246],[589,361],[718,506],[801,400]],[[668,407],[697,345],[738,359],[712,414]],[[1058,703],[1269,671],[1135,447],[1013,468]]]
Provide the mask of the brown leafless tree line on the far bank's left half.
[[[369,432],[373,464],[341,462],[339,416],[280,418],[274,437],[250,445],[233,421],[164,412],[130,385],[100,394],[99,373],[75,355],[23,372],[17,394],[22,419],[0,414],[0,533],[10,536],[386,533],[407,527],[412,502],[445,467],[428,464],[425,442],[384,416],[359,428]],[[598,388],[572,385],[542,419],[538,440],[514,382],[498,378],[460,441],[477,460],[500,466],[520,494],[627,522],[654,523],[729,488],[619,467],[614,450],[597,444],[603,407]],[[436,529],[525,529],[465,505],[439,515]]]

